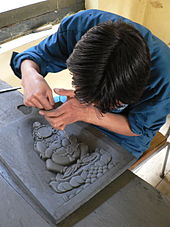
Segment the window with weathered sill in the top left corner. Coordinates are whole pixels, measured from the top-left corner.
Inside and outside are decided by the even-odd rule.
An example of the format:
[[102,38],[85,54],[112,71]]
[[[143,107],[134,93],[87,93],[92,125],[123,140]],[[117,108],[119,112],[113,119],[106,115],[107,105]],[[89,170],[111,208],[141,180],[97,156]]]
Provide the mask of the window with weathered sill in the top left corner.
[[85,0],[5,0],[0,9],[0,44],[84,9]]

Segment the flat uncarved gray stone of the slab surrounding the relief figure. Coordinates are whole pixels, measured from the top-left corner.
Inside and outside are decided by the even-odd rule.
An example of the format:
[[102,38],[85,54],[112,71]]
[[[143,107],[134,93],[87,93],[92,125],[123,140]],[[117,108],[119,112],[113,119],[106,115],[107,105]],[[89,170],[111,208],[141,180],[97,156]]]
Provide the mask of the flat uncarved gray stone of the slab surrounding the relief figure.
[[55,174],[46,170],[44,161],[40,160],[33,150],[32,124],[35,121],[47,123],[34,113],[1,129],[0,160],[18,185],[21,185],[42,209],[46,209],[56,223],[87,202],[135,161],[130,153],[96,128],[83,123],[70,125],[66,129],[68,134],[77,135],[91,149],[100,147],[110,152],[114,165],[72,199],[65,201],[62,193],[56,193],[49,187],[49,180],[55,177]]

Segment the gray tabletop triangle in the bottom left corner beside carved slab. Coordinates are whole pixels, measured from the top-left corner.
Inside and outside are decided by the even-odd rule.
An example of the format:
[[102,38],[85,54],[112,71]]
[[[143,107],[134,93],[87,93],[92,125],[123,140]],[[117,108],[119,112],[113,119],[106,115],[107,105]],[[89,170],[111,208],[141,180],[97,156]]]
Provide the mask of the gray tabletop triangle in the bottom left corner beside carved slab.
[[0,227],[50,227],[0,175]]

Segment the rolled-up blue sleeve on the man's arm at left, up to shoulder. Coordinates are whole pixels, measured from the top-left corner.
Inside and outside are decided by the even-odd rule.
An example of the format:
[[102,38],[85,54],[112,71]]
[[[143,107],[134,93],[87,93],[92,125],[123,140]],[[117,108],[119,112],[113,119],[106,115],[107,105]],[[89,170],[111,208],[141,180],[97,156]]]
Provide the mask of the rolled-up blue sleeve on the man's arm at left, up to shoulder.
[[14,52],[11,59],[14,73],[21,78],[20,65],[25,59],[36,62],[40,67],[40,74],[43,76],[46,76],[48,72],[59,72],[66,69],[66,60],[82,35],[78,26],[76,17],[67,17],[63,19],[56,33],[38,45],[22,53]]

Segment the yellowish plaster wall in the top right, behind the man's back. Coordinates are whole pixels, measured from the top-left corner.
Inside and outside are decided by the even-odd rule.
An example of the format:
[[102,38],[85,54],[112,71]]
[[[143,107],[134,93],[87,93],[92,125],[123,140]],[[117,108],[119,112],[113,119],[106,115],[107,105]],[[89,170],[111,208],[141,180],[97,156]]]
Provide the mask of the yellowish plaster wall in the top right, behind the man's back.
[[140,23],[170,45],[169,0],[86,0],[86,9],[92,8],[113,12]]

